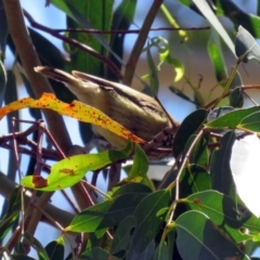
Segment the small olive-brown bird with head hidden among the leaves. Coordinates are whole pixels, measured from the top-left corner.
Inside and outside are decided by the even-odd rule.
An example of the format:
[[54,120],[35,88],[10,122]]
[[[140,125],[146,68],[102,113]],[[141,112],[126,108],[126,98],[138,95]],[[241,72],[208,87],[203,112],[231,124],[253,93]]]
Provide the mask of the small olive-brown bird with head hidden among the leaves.
[[[35,72],[62,81],[80,102],[100,109],[146,142],[152,141],[166,128],[176,129],[180,125],[169,118],[155,99],[125,84],[76,70],[70,75],[56,68],[38,66],[35,67]],[[92,129],[96,135],[103,136],[116,148],[122,148],[127,144],[126,139],[105,128],[93,125]],[[166,133],[166,136],[159,140],[157,147],[171,148],[174,131]],[[166,153],[159,154],[158,152],[150,152],[147,155],[153,159],[170,156],[169,153],[168,155]]]

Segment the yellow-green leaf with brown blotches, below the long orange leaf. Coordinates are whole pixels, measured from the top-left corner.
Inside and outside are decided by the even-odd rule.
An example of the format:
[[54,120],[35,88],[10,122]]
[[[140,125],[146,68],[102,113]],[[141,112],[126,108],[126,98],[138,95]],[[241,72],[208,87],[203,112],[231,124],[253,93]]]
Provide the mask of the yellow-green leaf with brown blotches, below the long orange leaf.
[[27,176],[21,184],[39,191],[57,191],[72,186],[79,182],[87,171],[101,169],[114,161],[123,159],[130,155],[132,144],[128,143],[123,150],[107,151],[100,154],[75,155],[65,158],[51,168],[47,179],[40,176]]

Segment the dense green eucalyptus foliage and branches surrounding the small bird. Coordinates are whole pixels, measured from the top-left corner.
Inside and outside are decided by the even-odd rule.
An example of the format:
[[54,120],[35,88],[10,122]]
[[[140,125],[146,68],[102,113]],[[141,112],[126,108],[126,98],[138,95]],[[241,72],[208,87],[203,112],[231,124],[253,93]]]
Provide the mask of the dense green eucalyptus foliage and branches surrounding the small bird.
[[[179,5],[196,12],[209,24],[180,28],[169,11],[170,1],[147,2],[141,28],[135,29],[136,41],[123,61],[125,36],[133,32],[130,26],[139,11],[134,0],[121,0],[117,6],[113,0],[47,1],[66,15],[67,28],[61,30],[38,23],[34,14],[22,10],[18,0],[0,0],[0,118],[8,121],[8,132],[1,129],[0,146],[10,152],[9,161],[0,158],[1,166],[9,165],[6,172],[0,173],[0,194],[5,199],[0,221],[3,259],[32,259],[28,256],[31,248],[37,259],[57,260],[258,259],[251,256],[260,240],[260,107],[245,90],[260,86],[244,86],[238,68],[242,64],[246,67],[250,60],[260,63],[260,48],[255,40],[260,36],[260,5],[253,15],[231,0],[180,0]],[[216,73],[220,95],[206,100],[190,81],[183,61],[174,57],[171,43],[162,37],[150,37],[158,16],[171,25],[160,29],[179,35],[183,44],[191,35],[210,31],[205,52],[212,62],[209,69]],[[220,16],[233,23],[229,34]],[[69,58],[42,31],[61,39]],[[231,73],[222,43],[236,58]],[[14,56],[12,66],[5,64],[8,48]],[[60,82],[50,84],[34,70],[48,65],[131,86],[142,53],[148,73],[139,79],[146,82],[146,93],[157,99],[158,70],[164,69],[162,64],[170,64],[174,79],[169,79],[169,84],[171,80],[183,80],[193,91],[188,95],[171,86],[172,95],[197,107],[178,128],[172,143],[176,161],[159,182],[148,178],[143,140],[131,133],[127,133],[131,138],[122,150],[99,146],[94,154],[73,152],[60,114],[100,123],[121,136],[126,132],[104,114],[75,102]],[[21,81],[30,98],[17,98]],[[246,95],[252,102],[248,108],[243,107]],[[26,121],[29,127],[22,131],[17,120],[26,118],[18,110],[26,107],[34,121]],[[96,144],[91,141],[89,125],[80,122],[79,128],[88,147]],[[247,146],[240,140],[248,140]],[[250,151],[252,154],[247,156]],[[21,164],[25,157],[29,159]],[[125,164],[129,158],[132,162]],[[238,162],[237,172],[233,166]],[[125,178],[120,178],[121,171]],[[98,188],[99,176],[105,179],[106,192]],[[20,185],[15,184],[17,180]],[[51,204],[54,193],[64,195],[73,212],[64,210],[62,204]],[[42,234],[37,233],[40,222],[48,223],[47,245],[39,238]],[[49,235],[51,225],[60,232],[56,237]]]

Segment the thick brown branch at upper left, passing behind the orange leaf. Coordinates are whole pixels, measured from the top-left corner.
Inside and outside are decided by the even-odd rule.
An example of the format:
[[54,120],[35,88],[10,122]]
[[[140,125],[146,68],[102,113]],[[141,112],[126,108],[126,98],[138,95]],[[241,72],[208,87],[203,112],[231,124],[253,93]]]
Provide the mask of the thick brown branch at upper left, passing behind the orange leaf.
[[[21,57],[27,78],[31,84],[36,98],[40,98],[43,92],[53,93],[49,81],[41,75],[36,74],[34,67],[40,65],[35,47],[26,28],[23,11],[18,0],[3,0],[3,8],[6,14],[9,34],[15,44]],[[63,118],[51,110],[43,110],[48,127],[58,143],[60,147],[68,153],[72,142],[63,121]],[[58,128],[57,128],[58,126]]]

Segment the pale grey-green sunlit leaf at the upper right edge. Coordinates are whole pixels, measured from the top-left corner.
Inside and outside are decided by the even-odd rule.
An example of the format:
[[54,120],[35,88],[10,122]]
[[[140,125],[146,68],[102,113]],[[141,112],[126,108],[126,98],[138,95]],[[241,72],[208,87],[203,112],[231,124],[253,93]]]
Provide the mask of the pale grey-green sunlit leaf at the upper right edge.
[[238,27],[235,51],[240,62],[247,63],[255,58],[260,63],[260,48],[256,39],[243,26]]

